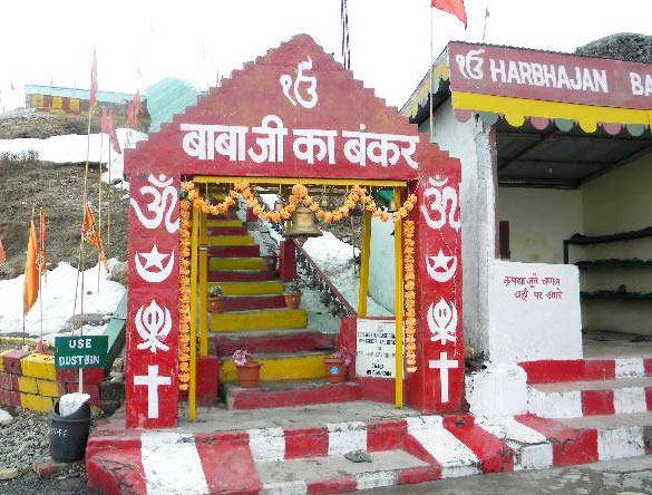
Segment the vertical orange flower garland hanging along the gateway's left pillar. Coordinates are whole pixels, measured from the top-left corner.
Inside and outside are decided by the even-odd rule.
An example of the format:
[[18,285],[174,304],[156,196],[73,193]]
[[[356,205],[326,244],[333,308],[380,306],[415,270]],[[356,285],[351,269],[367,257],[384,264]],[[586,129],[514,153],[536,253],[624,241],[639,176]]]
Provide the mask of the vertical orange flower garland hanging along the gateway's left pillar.
[[191,381],[191,202],[179,203],[178,270],[178,389],[188,389]]

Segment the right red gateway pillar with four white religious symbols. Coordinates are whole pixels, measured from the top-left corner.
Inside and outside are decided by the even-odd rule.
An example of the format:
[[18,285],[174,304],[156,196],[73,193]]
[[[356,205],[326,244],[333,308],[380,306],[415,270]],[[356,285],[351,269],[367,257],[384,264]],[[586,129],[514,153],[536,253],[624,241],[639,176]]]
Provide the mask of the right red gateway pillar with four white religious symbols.
[[465,367],[459,165],[435,171],[415,185],[419,201],[410,214],[416,241],[417,371],[406,376],[406,401],[427,412],[461,409]]

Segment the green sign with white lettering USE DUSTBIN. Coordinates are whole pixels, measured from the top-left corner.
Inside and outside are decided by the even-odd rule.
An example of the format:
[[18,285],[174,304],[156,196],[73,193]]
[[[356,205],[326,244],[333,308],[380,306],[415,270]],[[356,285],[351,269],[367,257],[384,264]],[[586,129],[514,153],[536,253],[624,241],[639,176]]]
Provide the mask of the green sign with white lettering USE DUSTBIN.
[[55,368],[106,368],[108,336],[57,337]]

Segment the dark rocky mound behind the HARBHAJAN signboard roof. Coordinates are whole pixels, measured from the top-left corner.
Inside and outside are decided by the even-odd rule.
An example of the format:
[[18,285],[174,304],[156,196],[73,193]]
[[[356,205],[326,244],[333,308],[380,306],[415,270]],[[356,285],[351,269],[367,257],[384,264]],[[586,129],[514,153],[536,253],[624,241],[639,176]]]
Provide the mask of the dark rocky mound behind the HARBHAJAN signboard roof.
[[652,64],[652,36],[619,32],[578,47],[575,54]]

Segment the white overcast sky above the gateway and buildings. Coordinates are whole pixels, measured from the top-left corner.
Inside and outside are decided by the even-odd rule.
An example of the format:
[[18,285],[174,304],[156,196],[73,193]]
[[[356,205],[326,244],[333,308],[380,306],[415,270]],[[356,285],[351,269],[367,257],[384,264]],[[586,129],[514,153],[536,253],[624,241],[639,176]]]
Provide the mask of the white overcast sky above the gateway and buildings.
[[[447,40],[545,50],[614,32],[652,33],[652,0],[466,0],[468,29],[435,11],[435,57]],[[348,0],[354,76],[401,106],[428,70],[430,0]],[[166,76],[213,85],[216,74],[306,32],[340,56],[340,0],[0,0],[0,90],[10,82],[135,91]]]

